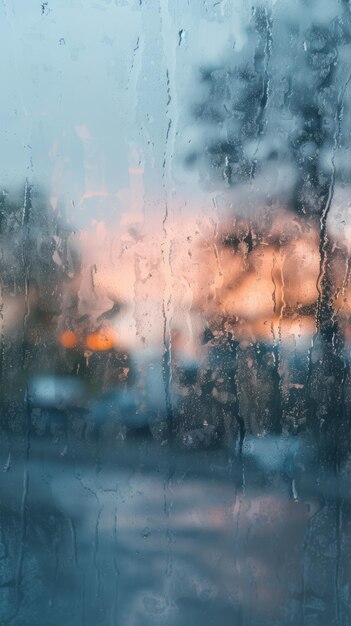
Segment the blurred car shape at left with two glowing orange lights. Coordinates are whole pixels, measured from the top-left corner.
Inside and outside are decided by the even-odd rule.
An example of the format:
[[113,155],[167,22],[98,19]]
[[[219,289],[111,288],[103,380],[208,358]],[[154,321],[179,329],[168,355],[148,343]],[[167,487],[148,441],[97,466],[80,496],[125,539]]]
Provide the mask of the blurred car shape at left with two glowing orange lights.
[[109,324],[91,327],[85,316],[75,327],[56,333],[50,347],[46,344],[49,367],[45,362],[43,366],[39,354],[35,362],[40,346],[29,346],[29,405],[34,415],[45,415],[49,422],[61,421],[66,427],[68,419],[83,418],[93,429],[110,424],[112,431],[123,435],[143,421],[130,391],[131,359],[118,347]]

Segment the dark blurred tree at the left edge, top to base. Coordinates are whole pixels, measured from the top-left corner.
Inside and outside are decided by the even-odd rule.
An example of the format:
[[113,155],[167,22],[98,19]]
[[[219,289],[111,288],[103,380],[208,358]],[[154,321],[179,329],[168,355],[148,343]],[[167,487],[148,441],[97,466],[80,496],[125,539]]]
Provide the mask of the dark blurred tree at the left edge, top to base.
[[19,428],[26,372],[55,367],[52,343],[63,285],[72,271],[67,258],[71,230],[39,187],[26,182],[2,190],[0,391],[6,420],[18,421]]

